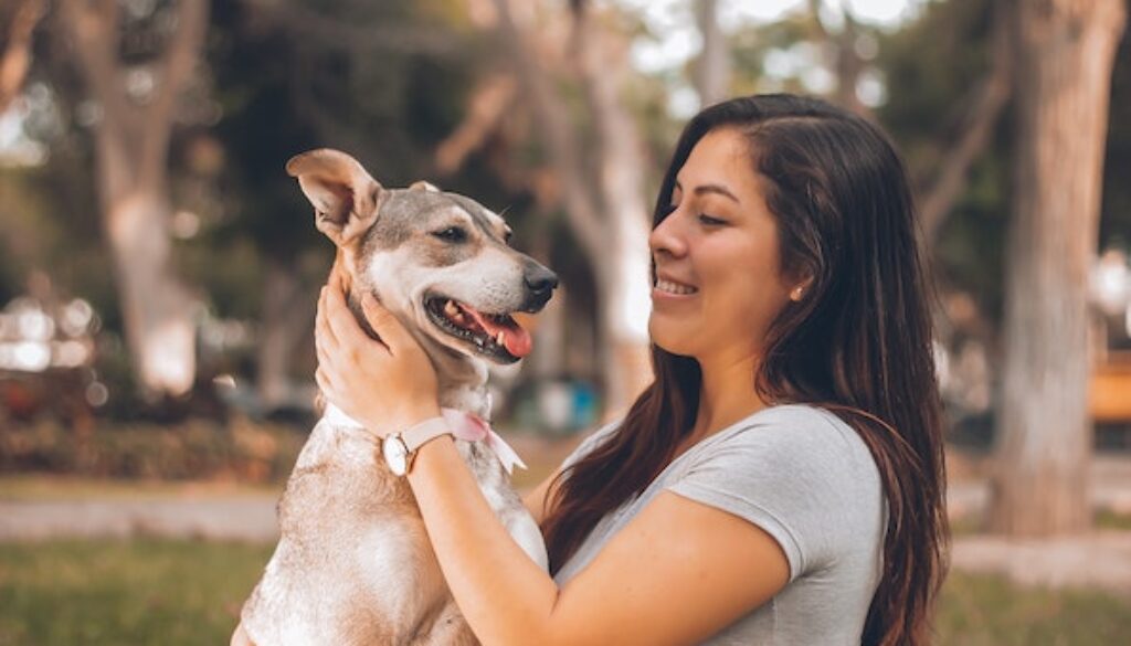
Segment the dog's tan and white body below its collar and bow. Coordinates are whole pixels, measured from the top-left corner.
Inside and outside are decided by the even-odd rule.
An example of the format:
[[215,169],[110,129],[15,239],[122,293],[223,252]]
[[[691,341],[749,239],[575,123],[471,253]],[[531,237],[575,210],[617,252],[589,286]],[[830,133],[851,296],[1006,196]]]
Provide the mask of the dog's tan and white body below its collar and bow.
[[[490,449],[457,447],[500,520],[542,561],[537,526]],[[379,456],[378,440],[356,429],[314,428],[279,502],[279,544],[244,610],[253,638],[400,644],[444,606],[450,593],[412,490]]]

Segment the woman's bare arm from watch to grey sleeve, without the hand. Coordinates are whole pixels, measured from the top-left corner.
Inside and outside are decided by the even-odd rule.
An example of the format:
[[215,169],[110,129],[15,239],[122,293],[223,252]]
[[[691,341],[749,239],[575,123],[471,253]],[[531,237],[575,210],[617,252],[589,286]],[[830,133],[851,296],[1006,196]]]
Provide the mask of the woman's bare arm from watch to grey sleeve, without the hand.
[[559,588],[510,539],[450,439],[409,483],[464,617],[484,644],[692,644],[768,601],[789,568],[757,526],[662,493]]

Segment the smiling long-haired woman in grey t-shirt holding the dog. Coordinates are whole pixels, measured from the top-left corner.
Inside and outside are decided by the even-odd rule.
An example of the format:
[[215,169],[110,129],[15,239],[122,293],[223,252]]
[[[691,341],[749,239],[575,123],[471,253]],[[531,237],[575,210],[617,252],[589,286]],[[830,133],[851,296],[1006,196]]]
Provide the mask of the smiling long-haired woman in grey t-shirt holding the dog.
[[[685,128],[649,238],[656,379],[527,498],[547,575],[449,436],[408,479],[484,644],[925,644],[947,525],[926,282],[903,165],[872,124],[787,95]],[[320,304],[319,384],[385,434],[435,376]],[[413,376],[411,380],[405,376]]]

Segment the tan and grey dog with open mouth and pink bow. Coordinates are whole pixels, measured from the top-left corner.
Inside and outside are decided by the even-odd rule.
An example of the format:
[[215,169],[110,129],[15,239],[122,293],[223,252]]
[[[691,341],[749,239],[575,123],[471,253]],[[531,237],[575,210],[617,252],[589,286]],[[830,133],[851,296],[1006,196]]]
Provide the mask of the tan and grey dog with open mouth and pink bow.
[[[446,416],[487,420],[489,362],[512,363],[530,351],[529,334],[510,315],[541,310],[556,276],[511,249],[506,222],[461,195],[426,182],[386,189],[356,160],[326,148],[286,169],[313,204],[317,227],[337,246],[331,276],[366,333],[373,336],[360,302],[368,292],[428,353]],[[478,643],[447,588],[408,483],[386,465],[380,445],[325,406],[279,501],[279,542],[233,644]],[[497,445],[456,446],[510,535],[546,568],[542,534],[510,488]]]

